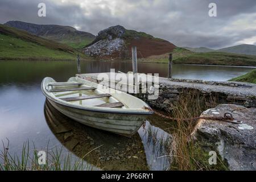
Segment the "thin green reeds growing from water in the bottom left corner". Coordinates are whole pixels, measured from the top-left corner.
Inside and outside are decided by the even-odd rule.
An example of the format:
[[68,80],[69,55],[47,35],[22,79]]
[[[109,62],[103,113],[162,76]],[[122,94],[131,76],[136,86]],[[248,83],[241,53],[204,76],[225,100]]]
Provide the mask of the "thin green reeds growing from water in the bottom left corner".
[[46,164],[39,164],[38,150],[34,148],[30,150],[30,143],[24,142],[21,154],[11,154],[9,148],[9,140],[7,145],[2,142],[3,150],[0,152],[0,171],[90,171],[92,166],[84,163],[68,153],[63,154],[63,148],[55,147],[46,152]]

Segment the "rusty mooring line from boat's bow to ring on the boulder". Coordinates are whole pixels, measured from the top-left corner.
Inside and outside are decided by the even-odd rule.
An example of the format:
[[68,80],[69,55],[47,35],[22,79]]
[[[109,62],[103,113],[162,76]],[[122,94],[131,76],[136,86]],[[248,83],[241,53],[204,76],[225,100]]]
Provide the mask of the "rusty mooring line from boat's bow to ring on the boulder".
[[223,117],[193,117],[193,118],[174,118],[174,117],[170,117],[167,115],[164,115],[162,113],[159,113],[158,111],[156,111],[155,109],[152,109],[150,107],[146,107],[144,106],[143,109],[147,109],[150,110],[152,112],[154,112],[156,115],[165,118],[165,119],[170,119],[172,121],[194,121],[196,119],[212,119],[212,120],[218,120],[218,121],[225,121],[225,122],[231,122],[231,123],[242,123],[241,121],[236,121],[233,118],[232,113],[230,112],[225,112]]

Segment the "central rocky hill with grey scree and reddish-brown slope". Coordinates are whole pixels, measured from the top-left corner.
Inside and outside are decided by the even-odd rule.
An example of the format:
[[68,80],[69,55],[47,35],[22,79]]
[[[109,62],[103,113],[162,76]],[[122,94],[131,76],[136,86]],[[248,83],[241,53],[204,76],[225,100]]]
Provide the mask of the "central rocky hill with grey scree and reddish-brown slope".
[[98,32],[96,39],[83,51],[86,55],[100,59],[127,59],[131,57],[131,46],[137,46],[138,57],[162,55],[172,52],[176,47],[167,40],[154,38],[144,32],[126,30],[118,25]]

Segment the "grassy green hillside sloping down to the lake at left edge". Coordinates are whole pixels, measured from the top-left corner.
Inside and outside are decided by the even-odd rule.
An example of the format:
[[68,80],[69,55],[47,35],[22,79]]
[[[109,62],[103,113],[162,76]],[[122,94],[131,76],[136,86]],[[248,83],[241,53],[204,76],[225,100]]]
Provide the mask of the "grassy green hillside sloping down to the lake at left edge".
[[0,24],[0,59],[74,60],[78,51],[65,44]]

